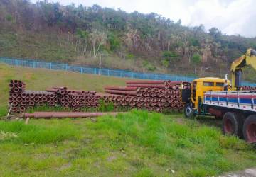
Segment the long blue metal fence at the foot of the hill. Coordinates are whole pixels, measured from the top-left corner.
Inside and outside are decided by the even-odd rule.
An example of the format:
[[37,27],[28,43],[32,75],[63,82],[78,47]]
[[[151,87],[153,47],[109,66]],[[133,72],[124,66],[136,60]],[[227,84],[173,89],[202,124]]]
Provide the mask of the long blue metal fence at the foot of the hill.
[[[117,76],[117,77],[128,77],[134,79],[154,79],[154,80],[171,80],[171,81],[193,81],[195,77],[188,76],[178,76],[169,74],[150,74],[150,73],[139,73],[139,72],[129,72],[117,69],[100,69],[92,67],[79,67],[70,64],[60,64],[51,62],[38,62],[32,59],[18,59],[9,57],[0,57],[0,62],[22,67],[32,67],[32,68],[46,68],[46,69],[58,69],[71,72],[80,72],[86,74],[100,74],[104,76]],[[244,86],[256,86],[249,82],[242,82]]]

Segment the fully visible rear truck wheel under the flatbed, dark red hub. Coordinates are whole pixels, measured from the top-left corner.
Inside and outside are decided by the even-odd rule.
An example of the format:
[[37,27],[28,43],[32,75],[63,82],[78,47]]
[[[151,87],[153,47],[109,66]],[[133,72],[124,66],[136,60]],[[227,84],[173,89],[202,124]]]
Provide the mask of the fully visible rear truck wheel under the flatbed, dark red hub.
[[240,126],[239,118],[235,113],[228,112],[223,116],[222,129],[225,135],[242,136],[242,127]]

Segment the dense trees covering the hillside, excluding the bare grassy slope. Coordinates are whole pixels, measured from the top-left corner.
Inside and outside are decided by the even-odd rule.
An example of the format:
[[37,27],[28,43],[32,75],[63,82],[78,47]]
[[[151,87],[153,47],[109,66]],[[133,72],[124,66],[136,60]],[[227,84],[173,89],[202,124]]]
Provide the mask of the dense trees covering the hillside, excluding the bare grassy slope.
[[220,66],[220,62],[233,61],[248,47],[256,47],[256,38],[224,35],[217,28],[210,28],[207,33],[203,25],[186,27],[181,21],[156,13],[126,13],[97,5],[0,0],[0,25],[2,32],[65,34],[61,45],[73,51],[73,59],[97,57],[104,50],[124,59],[130,55],[143,57],[148,63],[158,62],[167,68]]

